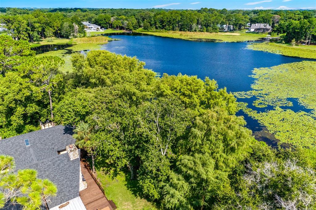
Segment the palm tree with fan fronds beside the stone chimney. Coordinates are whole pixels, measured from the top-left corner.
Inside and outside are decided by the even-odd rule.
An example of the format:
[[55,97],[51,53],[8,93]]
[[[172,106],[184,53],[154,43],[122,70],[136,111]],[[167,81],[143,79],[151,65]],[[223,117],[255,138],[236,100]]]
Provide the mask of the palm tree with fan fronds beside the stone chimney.
[[75,134],[73,137],[76,139],[76,146],[80,149],[85,149],[92,157],[92,172],[95,173],[94,169],[94,155],[92,147],[92,128],[89,123],[81,122],[76,126],[74,130]]

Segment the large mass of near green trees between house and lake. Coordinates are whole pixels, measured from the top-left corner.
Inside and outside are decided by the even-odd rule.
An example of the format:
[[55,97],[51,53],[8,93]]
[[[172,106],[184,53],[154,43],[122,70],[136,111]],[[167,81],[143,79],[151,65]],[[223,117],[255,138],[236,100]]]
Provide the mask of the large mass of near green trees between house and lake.
[[[314,209],[316,153],[271,149],[237,117],[216,81],[144,69],[108,51],[35,56],[0,35],[0,136],[76,125],[96,169],[125,171],[161,209]],[[94,167],[93,167],[94,168]]]

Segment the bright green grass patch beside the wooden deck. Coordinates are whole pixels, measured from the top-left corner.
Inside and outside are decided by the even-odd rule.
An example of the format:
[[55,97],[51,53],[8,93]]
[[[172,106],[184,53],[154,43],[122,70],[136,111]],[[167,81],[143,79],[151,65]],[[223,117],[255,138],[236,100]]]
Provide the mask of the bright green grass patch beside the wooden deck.
[[109,173],[98,169],[96,171],[107,199],[112,200],[118,210],[157,209],[152,203],[139,196],[137,180],[131,180],[129,173],[119,172],[113,177]]

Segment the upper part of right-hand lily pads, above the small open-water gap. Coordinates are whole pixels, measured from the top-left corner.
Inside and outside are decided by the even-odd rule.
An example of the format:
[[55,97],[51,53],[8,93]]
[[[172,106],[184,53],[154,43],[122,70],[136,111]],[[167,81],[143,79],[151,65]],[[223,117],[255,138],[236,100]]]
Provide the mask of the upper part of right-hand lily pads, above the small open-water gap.
[[[237,98],[255,96],[256,107],[292,106],[288,98],[297,98],[298,102],[308,109],[316,110],[316,62],[301,61],[287,63],[270,68],[255,68],[252,90],[236,92]],[[259,105],[260,106],[257,106]]]

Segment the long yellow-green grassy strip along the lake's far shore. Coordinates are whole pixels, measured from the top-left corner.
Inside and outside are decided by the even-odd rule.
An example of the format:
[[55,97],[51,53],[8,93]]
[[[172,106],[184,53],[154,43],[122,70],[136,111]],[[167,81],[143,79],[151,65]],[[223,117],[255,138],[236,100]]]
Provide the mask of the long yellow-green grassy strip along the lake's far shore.
[[183,32],[183,31],[160,31],[149,32],[139,29],[136,32],[145,33],[161,37],[179,38],[192,41],[216,41],[216,42],[244,42],[258,40],[266,37],[267,34],[246,33],[244,30],[239,32]]

